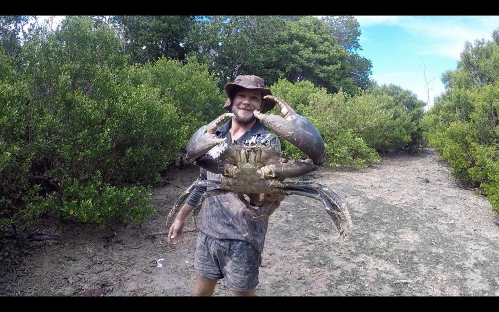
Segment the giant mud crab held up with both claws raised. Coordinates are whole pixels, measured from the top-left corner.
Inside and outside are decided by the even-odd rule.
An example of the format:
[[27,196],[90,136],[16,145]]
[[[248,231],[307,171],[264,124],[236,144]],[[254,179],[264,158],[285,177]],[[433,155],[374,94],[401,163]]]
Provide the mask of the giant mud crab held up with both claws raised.
[[[272,147],[245,142],[228,146],[216,158],[201,157],[215,146],[225,142],[225,138],[216,138],[214,134],[226,118],[234,116],[232,113],[225,113],[208,125],[199,128],[187,145],[188,157],[195,159],[196,164],[202,168],[213,173],[222,174],[222,181],[195,181],[182,193],[173,206],[168,215],[167,224],[172,214],[176,213],[194,188],[209,187],[212,189],[205,192],[193,210],[194,220],[196,220],[204,199],[209,196],[226,192],[237,193],[249,209],[257,209],[247,203],[244,194],[280,193],[306,196],[321,201],[341,235],[345,234],[341,216],[345,217],[349,228],[352,227],[345,204],[326,185],[305,181],[284,181],[286,178],[300,177],[317,170],[326,159],[324,142],[310,121],[297,114],[287,103],[271,95],[264,98],[269,98],[279,104],[282,117],[274,114],[262,114],[258,111],[253,112],[254,116],[273,130],[279,138],[284,138],[295,145],[308,158],[287,161],[282,157],[281,152]],[[272,202],[267,203],[266,214],[259,217],[255,216],[253,220],[267,218],[277,206],[278,204],[274,205]]]

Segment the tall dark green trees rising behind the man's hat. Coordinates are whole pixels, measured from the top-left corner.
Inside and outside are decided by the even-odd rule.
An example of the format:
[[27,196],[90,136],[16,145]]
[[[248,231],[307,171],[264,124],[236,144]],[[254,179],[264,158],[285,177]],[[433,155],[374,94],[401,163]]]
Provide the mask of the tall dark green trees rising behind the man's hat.
[[[336,92],[367,87],[372,64],[356,54],[358,23],[352,16],[322,21],[312,16],[198,16],[185,45],[219,79],[257,72],[267,84],[307,79]],[[336,36],[341,36],[338,42]],[[355,36],[355,37],[351,37]]]

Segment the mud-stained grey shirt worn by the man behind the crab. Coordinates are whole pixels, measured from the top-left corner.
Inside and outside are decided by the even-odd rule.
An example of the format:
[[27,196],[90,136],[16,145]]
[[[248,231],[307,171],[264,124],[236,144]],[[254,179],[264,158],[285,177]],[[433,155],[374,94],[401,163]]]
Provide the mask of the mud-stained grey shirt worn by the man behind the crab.
[[[217,137],[225,137],[227,140],[225,144],[220,144],[213,148],[209,152],[211,156],[218,157],[220,153],[232,144],[230,127],[231,122],[229,121],[217,130]],[[235,140],[234,144],[244,141],[273,146],[280,151],[279,138],[270,133],[259,120],[256,120],[254,126],[243,134],[239,140]],[[221,181],[221,175],[202,168],[199,179]],[[196,188],[187,198],[187,203],[196,207],[196,204],[206,190],[206,187]],[[257,209],[257,215],[265,213],[263,210],[263,208]],[[254,216],[254,212],[246,207],[237,194],[227,193],[206,198],[203,202],[200,215],[201,223],[199,224],[199,230],[201,232],[218,239],[249,242],[258,253],[262,253],[268,219],[251,221],[250,219]]]

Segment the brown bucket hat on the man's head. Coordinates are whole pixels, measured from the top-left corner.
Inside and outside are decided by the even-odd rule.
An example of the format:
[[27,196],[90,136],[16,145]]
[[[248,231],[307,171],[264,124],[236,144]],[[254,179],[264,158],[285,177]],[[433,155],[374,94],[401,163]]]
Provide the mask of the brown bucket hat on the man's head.
[[[234,79],[234,82],[229,82],[228,84],[225,85],[225,93],[227,94],[227,101],[224,104],[224,108],[227,110],[231,110],[231,100],[230,98],[234,95],[233,92],[235,89],[238,88],[246,88],[246,89],[254,89],[254,90],[259,90],[261,92],[261,96],[265,95],[272,95],[272,92],[270,92],[270,89],[265,88],[265,83],[263,82],[263,79],[254,76],[254,75],[239,75]],[[262,109],[261,112],[267,112],[274,108],[275,102],[272,100],[268,99],[263,99],[262,102]]]

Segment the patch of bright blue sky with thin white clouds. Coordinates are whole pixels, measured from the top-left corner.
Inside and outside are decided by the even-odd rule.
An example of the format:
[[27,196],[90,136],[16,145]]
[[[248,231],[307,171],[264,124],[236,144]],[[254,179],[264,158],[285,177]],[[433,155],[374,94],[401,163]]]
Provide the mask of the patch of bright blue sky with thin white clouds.
[[393,83],[408,89],[429,106],[444,91],[442,73],[457,68],[465,42],[492,40],[492,31],[499,27],[499,16],[485,15],[355,18],[361,31],[358,53],[371,60],[371,78],[380,85]]

